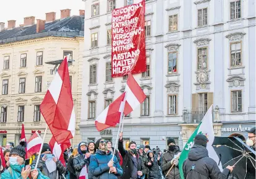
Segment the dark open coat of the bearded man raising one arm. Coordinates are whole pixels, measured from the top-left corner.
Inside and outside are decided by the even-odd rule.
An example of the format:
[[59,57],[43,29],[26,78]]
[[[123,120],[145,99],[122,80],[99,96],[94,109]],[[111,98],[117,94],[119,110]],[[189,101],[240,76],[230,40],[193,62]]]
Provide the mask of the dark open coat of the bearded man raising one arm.
[[[121,165],[121,168],[123,168],[123,175],[120,177],[120,179],[130,179],[131,178],[131,170],[133,168],[133,160],[131,157],[133,157],[129,151],[126,151],[123,148],[123,139],[118,141],[118,150],[121,154],[121,157],[123,157],[123,164]],[[142,159],[139,157],[138,154],[136,154],[136,157],[138,159],[138,171],[143,172],[143,165],[142,165]],[[144,173],[143,173],[144,174]]]

